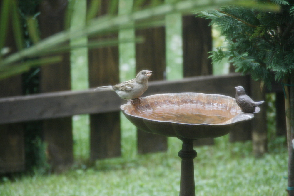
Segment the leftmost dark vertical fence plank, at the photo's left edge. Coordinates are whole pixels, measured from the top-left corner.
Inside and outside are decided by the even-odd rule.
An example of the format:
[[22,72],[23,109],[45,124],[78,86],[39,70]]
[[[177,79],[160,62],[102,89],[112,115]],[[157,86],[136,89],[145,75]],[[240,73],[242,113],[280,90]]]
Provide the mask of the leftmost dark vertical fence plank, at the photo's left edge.
[[[0,5],[2,5],[2,0],[0,0]],[[9,47],[10,52],[16,51],[11,21],[9,21],[8,25],[5,46]],[[21,82],[21,75],[0,80],[0,97],[21,95]],[[0,125],[0,135],[0,173],[24,170],[24,124]]]

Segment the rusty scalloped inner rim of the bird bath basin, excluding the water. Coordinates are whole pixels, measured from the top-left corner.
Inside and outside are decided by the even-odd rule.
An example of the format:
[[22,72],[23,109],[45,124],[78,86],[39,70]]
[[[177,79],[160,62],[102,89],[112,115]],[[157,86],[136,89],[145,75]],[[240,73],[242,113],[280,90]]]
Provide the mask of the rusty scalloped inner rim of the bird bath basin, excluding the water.
[[[169,98],[169,99],[168,99]],[[173,98],[173,99],[171,99]],[[177,99],[177,101],[173,101]],[[195,98],[198,98],[196,100]],[[205,98],[204,100],[199,100],[199,98]],[[182,102],[179,103],[181,100]],[[223,102],[220,103],[220,100]],[[152,106],[151,104],[152,103]],[[166,120],[154,120],[150,118],[145,118],[140,115],[134,115],[136,111],[147,111],[153,110],[154,108],[160,108],[162,106],[181,106],[181,105],[199,105],[204,108],[221,108],[223,110],[230,110],[233,118],[229,120],[217,123],[217,124],[209,124],[209,123],[181,123],[181,122],[173,122]],[[252,113],[243,113],[241,112],[240,107],[237,105],[235,98],[230,96],[220,95],[220,94],[205,94],[205,93],[166,93],[166,94],[155,94],[146,96],[141,98],[141,104],[136,102],[135,104],[131,104],[130,102],[121,105],[121,110],[126,114],[133,116],[135,118],[142,118],[145,120],[155,121],[155,122],[169,122],[175,124],[183,124],[183,125],[229,125],[234,124],[240,121],[250,120],[254,117]],[[140,112],[139,112],[140,113]]]

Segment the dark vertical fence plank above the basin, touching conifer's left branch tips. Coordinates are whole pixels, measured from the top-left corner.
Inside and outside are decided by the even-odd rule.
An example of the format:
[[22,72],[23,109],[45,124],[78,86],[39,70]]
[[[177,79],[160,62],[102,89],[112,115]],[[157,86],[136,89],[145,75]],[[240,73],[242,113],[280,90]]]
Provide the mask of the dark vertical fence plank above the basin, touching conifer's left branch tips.
[[[211,26],[209,21],[194,15],[182,17],[183,21],[183,66],[184,77],[212,74],[211,59],[208,52],[212,50]],[[213,138],[194,141],[194,145],[212,145]]]

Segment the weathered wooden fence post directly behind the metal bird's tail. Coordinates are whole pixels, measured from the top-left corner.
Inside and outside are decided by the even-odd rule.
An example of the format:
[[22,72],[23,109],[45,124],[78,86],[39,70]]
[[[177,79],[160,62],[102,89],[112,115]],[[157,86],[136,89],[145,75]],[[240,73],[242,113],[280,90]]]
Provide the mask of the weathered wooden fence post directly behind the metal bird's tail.
[[[260,82],[251,82],[251,98],[254,101],[265,100],[265,89],[260,89]],[[267,151],[267,125],[266,125],[266,108],[267,104],[263,103],[260,107],[260,112],[254,115],[252,144],[253,154],[255,157],[262,156]]]

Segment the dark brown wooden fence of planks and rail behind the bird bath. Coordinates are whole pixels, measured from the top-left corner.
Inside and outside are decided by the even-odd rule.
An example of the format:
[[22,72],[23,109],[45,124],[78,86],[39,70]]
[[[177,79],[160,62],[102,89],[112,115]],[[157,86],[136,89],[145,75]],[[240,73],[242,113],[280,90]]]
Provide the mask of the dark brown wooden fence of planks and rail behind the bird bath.
[[[40,6],[39,18],[42,38],[63,29],[63,14],[67,0],[50,6],[44,1]],[[103,1],[106,6],[108,1]],[[99,15],[103,13],[103,6]],[[11,27],[10,27],[11,28]],[[11,29],[10,29],[11,31]],[[11,35],[11,33],[8,33]],[[145,42],[136,44],[136,71],[153,71],[148,90],[143,96],[157,93],[201,92],[235,96],[235,86],[244,86],[255,100],[264,100],[259,84],[249,76],[231,73],[226,76],[212,76],[212,66],[207,52],[211,51],[211,28],[208,21],[183,16],[183,70],[184,78],[179,81],[165,81],[165,28],[156,27],[136,31],[144,36]],[[117,37],[112,33],[106,37]],[[101,37],[92,37],[93,41]],[[105,38],[105,37],[104,37]],[[7,39],[6,46],[14,48],[13,39]],[[71,91],[69,54],[63,61],[41,67],[41,93],[22,95],[21,76],[0,81],[0,173],[25,169],[24,126],[26,122],[42,122],[44,141],[48,144],[51,165],[58,169],[70,166],[73,161],[72,116],[90,114],[90,159],[116,157],[121,155],[119,107],[125,103],[113,91],[94,92],[93,87],[119,82],[118,47],[91,49],[89,55],[89,85],[84,91]],[[206,76],[203,76],[206,75]],[[282,93],[279,86],[273,92]],[[279,102],[283,105],[283,97]],[[253,130],[255,153],[266,151],[266,105],[254,119],[254,125],[239,126],[230,133],[230,140],[247,140]],[[278,110],[277,110],[278,112]],[[283,110],[278,118],[283,119]],[[281,114],[281,115],[280,115]],[[262,123],[261,123],[262,122]],[[250,128],[248,128],[248,126]],[[278,125],[280,130],[284,124]],[[282,131],[283,132],[283,131]],[[149,153],[167,149],[167,138],[138,131],[138,152]],[[212,144],[213,139],[198,140],[196,144]]]

